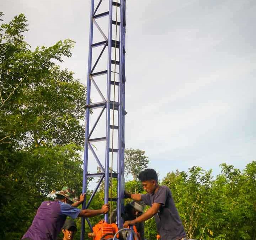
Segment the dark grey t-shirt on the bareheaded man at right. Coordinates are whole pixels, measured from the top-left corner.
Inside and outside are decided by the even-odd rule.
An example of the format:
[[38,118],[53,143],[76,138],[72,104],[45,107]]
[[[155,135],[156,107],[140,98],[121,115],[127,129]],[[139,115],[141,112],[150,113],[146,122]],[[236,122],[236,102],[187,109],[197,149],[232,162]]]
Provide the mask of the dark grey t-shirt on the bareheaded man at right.
[[154,216],[161,240],[179,239],[186,236],[169,187],[160,186],[155,194],[143,194],[141,197],[149,206],[153,203],[161,203],[159,212]]

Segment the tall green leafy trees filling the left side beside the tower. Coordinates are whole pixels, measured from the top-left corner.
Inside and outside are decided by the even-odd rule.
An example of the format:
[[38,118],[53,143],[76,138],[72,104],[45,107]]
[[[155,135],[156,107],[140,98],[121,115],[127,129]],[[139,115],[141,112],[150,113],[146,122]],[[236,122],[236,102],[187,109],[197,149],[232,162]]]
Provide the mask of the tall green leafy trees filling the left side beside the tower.
[[80,194],[82,186],[86,89],[55,64],[71,56],[74,41],[32,51],[26,31],[23,14],[0,27],[0,234],[5,239],[21,238],[50,191],[68,185]]

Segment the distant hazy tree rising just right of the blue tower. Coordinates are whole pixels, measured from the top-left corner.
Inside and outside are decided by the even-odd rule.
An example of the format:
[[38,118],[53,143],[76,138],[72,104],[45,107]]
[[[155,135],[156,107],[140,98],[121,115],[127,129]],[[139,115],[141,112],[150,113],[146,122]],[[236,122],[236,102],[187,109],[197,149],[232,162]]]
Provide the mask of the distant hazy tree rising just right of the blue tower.
[[133,180],[137,180],[139,173],[148,167],[148,157],[145,151],[140,149],[126,149],[124,151],[125,174],[132,175]]

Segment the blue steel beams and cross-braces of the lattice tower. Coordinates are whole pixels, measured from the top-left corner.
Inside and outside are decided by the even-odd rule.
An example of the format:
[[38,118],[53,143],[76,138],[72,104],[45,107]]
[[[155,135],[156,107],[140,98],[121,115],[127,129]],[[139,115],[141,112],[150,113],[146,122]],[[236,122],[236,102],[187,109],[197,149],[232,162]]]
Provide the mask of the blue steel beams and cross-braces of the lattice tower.
[[[108,11],[100,12],[99,9],[103,1],[108,1]],[[116,19],[113,19],[114,13],[116,14]],[[118,17],[117,17],[118,16]],[[89,177],[100,177],[95,190],[92,192],[92,195],[89,201],[86,201],[82,205],[82,209],[87,209],[90,206],[90,203],[95,196],[96,191],[101,185],[102,181],[105,180],[105,197],[104,203],[109,201],[109,179],[110,175],[117,178],[117,198],[112,198],[112,201],[117,201],[117,225],[120,228],[122,226],[121,210],[123,209],[123,194],[124,194],[124,116],[126,114],[124,103],[125,103],[125,28],[126,28],[126,0],[99,0],[97,5],[94,0],[91,0],[91,14],[90,14],[90,37],[89,37],[89,58],[88,58],[88,75],[87,75],[87,98],[86,98],[86,127],[85,127],[85,146],[84,146],[84,170],[83,170],[83,186],[82,193],[86,193],[87,180]],[[108,37],[97,23],[99,19],[108,21]],[[96,27],[96,28],[95,28]],[[118,31],[118,39],[112,39],[114,31]],[[97,30],[100,32],[104,41],[93,42],[94,32]],[[113,30],[113,31],[112,31]],[[117,36],[117,35],[116,35]],[[92,63],[93,59],[93,49],[102,47],[100,54],[97,54],[96,61]],[[112,54],[112,50],[118,49],[118,59],[116,54]],[[103,58],[103,52],[107,51],[107,66],[103,71],[96,71],[97,65],[101,58]],[[113,56],[115,55],[115,56]],[[113,59],[114,57],[114,59]],[[112,67],[114,66],[114,72]],[[116,67],[117,66],[117,67]],[[114,77],[113,77],[114,75]],[[103,91],[100,90],[97,83],[97,76],[106,77],[106,97],[103,94]],[[95,86],[98,95],[101,97],[101,102],[92,102],[91,98],[91,83]],[[118,89],[118,100],[111,100],[111,96],[115,94],[113,87]],[[90,123],[90,111],[101,108],[100,114],[98,115],[95,122]],[[111,123],[111,110],[117,114],[117,124],[114,124],[114,120]],[[103,112],[106,112],[106,128],[102,132],[102,136],[98,138],[92,138],[92,133],[98,126],[99,120],[102,118]],[[113,113],[113,114],[114,114]],[[113,115],[114,119],[114,115]],[[90,128],[90,124],[92,124]],[[102,129],[101,129],[102,130]],[[113,148],[113,142],[111,145],[110,131],[117,132],[117,138],[115,145],[116,149]],[[113,133],[112,133],[113,136]],[[102,164],[102,159],[98,157],[98,152],[93,148],[92,143],[105,141],[105,166]],[[112,137],[113,141],[113,137]],[[91,151],[94,156],[100,172],[88,173],[88,151]],[[117,154],[117,172],[110,173],[110,155],[113,153]],[[111,170],[112,171],[112,170]],[[85,221],[89,224],[92,229],[92,225],[88,218],[82,218],[81,224],[81,239],[84,239],[85,233]],[[108,222],[108,214],[105,215],[105,221]]]

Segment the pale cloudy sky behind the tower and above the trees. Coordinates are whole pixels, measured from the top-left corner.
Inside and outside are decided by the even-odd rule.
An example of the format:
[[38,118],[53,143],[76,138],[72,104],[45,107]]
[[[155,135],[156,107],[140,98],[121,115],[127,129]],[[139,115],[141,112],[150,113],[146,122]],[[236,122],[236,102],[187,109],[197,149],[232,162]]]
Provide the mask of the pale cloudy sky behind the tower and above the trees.
[[[145,150],[160,178],[256,160],[256,1],[126,2],[126,148]],[[89,0],[2,0],[0,11],[27,16],[32,49],[73,39],[61,65],[86,83]]]

